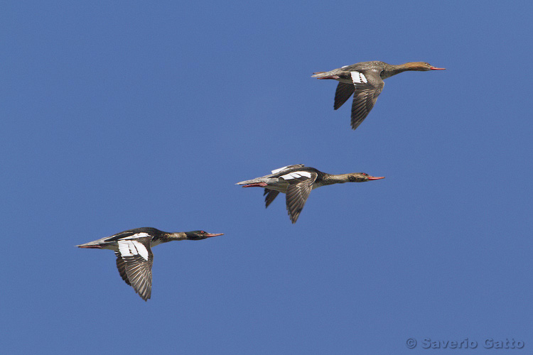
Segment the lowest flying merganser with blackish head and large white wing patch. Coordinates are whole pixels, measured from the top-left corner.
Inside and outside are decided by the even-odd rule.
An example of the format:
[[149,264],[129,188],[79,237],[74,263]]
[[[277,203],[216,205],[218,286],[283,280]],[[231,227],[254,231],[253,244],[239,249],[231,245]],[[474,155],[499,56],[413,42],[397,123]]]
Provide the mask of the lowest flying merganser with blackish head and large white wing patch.
[[134,288],[143,300],[148,300],[152,293],[152,263],[154,254],[152,246],[167,241],[198,241],[223,233],[210,234],[205,231],[180,231],[168,233],[159,229],[143,227],[121,231],[107,238],[78,245],[80,248],[111,249],[117,256],[117,268],[122,280]]

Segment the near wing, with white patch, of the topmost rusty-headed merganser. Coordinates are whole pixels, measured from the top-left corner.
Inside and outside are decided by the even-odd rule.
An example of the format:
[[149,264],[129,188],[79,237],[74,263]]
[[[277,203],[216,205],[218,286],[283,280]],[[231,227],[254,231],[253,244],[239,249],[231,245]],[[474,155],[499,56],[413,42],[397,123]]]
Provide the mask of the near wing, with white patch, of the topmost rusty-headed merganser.
[[365,75],[365,72],[350,72],[352,75],[355,94],[352,102],[352,129],[362,123],[368,116],[381,94],[384,82],[379,75]]

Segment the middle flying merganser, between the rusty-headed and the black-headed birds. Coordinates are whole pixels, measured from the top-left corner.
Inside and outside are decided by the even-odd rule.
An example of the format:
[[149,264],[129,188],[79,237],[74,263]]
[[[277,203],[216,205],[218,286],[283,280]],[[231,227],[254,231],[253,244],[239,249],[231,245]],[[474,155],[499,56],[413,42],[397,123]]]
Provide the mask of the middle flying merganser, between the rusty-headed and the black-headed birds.
[[384,177],[375,178],[365,173],[331,175],[322,173],[315,168],[308,168],[303,164],[296,164],[272,170],[271,175],[237,182],[235,185],[244,185],[243,187],[264,187],[263,195],[266,195],[264,198],[266,207],[269,207],[269,204],[274,201],[279,192],[283,192],[286,194],[287,212],[289,212],[291,222],[296,223],[311,190],[325,185],[342,184],[344,182],[365,182],[379,179],[384,179]]

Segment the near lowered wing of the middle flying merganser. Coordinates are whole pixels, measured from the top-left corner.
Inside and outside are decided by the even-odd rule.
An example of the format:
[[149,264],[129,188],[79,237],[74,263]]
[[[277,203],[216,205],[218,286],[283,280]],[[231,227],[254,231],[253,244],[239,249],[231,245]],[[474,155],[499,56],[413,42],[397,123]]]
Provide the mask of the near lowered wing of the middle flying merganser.
[[281,179],[289,182],[286,192],[286,205],[291,222],[296,223],[296,220],[298,220],[317,176],[317,173],[309,171],[293,171],[280,176]]

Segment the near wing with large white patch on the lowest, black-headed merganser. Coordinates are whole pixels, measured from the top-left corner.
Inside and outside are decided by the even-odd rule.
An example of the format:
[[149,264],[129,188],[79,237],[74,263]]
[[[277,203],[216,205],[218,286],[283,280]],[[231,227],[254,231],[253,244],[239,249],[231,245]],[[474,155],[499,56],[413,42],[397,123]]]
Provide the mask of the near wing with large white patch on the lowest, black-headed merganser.
[[151,237],[137,237],[118,241],[117,268],[120,276],[128,285],[134,288],[143,300],[151,297],[152,263],[154,254],[150,249]]

